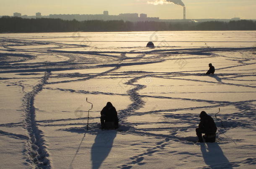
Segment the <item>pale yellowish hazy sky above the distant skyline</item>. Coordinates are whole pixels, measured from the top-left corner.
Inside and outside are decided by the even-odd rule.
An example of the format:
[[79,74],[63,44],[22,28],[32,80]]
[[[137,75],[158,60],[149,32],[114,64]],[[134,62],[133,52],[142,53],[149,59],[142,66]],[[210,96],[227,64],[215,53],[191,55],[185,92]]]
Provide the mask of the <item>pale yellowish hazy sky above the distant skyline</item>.
[[[182,19],[183,7],[173,3],[153,5],[166,0],[0,0],[0,15],[146,13],[160,19]],[[151,2],[151,3],[150,3]],[[256,0],[182,0],[186,18],[256,19]]]

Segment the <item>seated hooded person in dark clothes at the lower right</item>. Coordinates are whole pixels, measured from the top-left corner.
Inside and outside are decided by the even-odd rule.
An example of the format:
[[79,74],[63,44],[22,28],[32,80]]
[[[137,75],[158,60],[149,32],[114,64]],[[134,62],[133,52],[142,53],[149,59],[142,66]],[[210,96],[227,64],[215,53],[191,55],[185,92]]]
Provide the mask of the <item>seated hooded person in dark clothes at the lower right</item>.
[[196,135],[199,142],[204,142],[202,133],[204,133],[205,142],[215,142],[217,127],[211,116],[202,111],[200,114],[200,124],[196,128]]

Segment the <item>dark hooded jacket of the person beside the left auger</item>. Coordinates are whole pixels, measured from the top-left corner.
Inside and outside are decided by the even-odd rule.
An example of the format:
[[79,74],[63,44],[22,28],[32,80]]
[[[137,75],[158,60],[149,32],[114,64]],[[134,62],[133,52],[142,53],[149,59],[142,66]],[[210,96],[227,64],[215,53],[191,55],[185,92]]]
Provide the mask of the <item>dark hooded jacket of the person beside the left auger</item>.
[[107,102],[100,115],[101,119],[104,119],[105,122],[113,121],[115,125],[118,125],[118,113],[112,103]]

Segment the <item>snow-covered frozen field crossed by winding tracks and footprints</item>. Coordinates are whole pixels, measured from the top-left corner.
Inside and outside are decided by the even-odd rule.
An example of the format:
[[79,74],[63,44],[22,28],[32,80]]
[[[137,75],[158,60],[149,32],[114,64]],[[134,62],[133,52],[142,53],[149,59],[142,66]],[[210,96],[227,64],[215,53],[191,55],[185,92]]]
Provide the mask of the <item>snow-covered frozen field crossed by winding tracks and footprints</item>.
[[0,34],[0,89],[1,169],[256,168],[256,31]]

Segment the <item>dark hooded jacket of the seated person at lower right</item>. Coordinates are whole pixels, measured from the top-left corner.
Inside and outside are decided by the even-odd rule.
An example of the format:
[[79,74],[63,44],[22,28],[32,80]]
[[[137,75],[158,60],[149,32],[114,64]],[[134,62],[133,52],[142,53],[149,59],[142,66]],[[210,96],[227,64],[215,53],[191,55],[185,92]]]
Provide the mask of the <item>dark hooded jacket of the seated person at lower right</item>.
[[205,111],[202,111],[200,114],[200,118],[201,119],[199,129],[202,129],[206,134],[215,134],[217,131],[217,127],[212,117],[206,114]]

